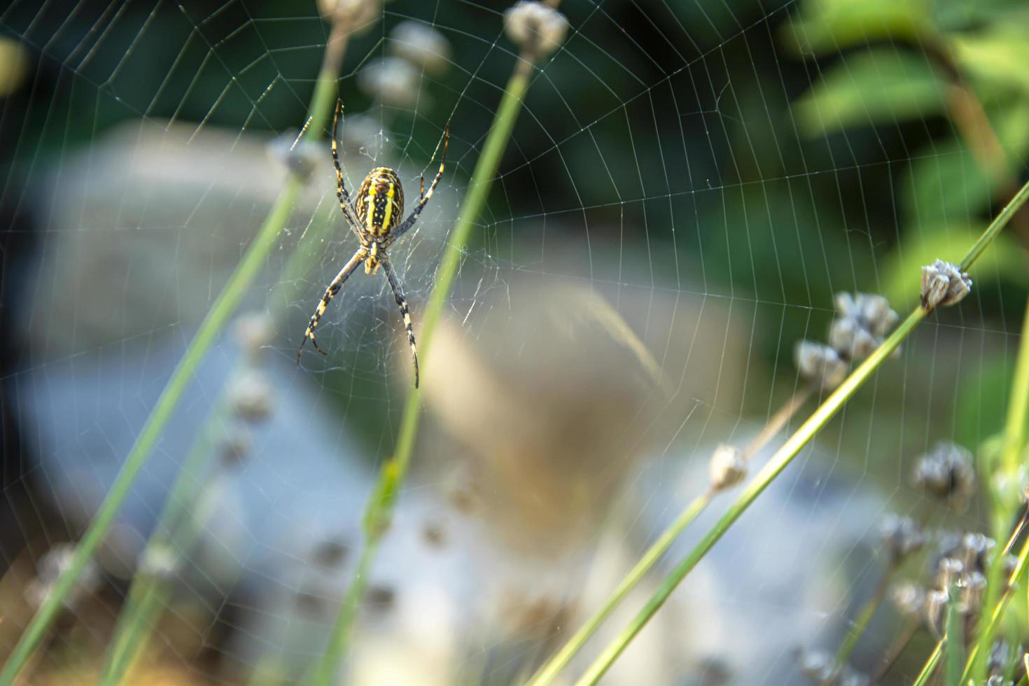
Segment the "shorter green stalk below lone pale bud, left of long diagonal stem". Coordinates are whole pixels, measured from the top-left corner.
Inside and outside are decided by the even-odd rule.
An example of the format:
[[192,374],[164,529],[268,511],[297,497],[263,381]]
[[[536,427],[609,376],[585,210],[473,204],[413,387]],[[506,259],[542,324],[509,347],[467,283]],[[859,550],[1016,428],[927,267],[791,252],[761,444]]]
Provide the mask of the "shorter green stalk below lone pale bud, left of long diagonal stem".
[[664,534],[661,535],[653,545],[647,548],[647,551],[643,553],[640,561],[636,563],[636,566],[622,579],[614,592],[611,593],[610,598],[604,603],[604,605],[598,610],[575,633],[575,635],[568,640],[568,643],[561,648],[561,650],[549,659],[545,664],[543,664],[536,672],[535,675],[529,680],[528,686],[544,686],[544,684],[549,684],[554,681],[554,678],[558,676],[568,664],[568,661],[572,658],[572,655],[577,653],[586,642],[597,633],[600,625],[604,623],[614,609],[619,603],[629,594],[633,588],[643,579],[647,572],[657,564],[657,562],[668,551],[672,543],[679,537],[679,535],[685,531],[686,527],[693,523],[697,515],[704,511],[704,508],[710,504],[711,500],[714,498],[714,491],[706,491],[702,495],[698,496],[686,506],[682,513],[679,514],[678,518],[669,527]]

